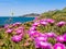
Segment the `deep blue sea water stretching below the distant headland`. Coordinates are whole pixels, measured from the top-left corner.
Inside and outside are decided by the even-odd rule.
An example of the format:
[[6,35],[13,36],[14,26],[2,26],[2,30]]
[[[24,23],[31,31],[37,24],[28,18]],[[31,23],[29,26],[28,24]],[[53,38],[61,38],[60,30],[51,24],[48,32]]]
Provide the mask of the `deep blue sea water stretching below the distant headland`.
[[30,22],[33,21],[35,17],[23,17],[23,16],[1,16],[0,17],[0,25],[4,25],[4,24],[13,24],[15,22],[21,22],[21,23],[25,23],[25,22]]

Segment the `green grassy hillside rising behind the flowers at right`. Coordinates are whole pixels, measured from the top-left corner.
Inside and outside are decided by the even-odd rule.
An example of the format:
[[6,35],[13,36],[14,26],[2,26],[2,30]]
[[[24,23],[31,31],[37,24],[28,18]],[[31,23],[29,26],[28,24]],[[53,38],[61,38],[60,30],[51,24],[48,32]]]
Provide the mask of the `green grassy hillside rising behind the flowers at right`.
[[42,13],[41,17],[38,19],[44,19],[44,17],[54,19],[56,21],[66,21],[66,8],[64,8],[63,10],[54,10]]

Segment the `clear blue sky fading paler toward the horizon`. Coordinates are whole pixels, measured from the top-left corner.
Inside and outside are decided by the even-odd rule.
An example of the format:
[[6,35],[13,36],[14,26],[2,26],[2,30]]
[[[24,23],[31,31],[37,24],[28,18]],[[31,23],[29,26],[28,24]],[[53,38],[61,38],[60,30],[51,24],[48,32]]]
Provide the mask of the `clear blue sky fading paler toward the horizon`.
[[14,16],[29,13],[43,13],[50,10],[63,9],[66,0],[0,0],[0,16]]

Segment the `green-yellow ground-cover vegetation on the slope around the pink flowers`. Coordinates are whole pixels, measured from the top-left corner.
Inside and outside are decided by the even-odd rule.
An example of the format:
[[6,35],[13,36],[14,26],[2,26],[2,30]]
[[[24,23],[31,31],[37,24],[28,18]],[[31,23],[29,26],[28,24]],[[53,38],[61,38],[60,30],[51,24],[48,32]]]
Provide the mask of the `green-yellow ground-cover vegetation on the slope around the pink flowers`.
[[[37,25],[37,32],[42,34],[54,32],[54,34],[58,36],[66,34],[66,25],[63,25],[62,27],[56,26],[56,24],[61,21],[66,22],[66,8],[63,10],[48,11],[42,13],[40,17],[32,22],[26,22],[24,24],[10,24],[9,26],[7,25],[7,27],[4,28],[0,28],[0,49],[37,49],[35,48],[34,39],[29,36],[29,30],[35,22],[40,22],[44,19],[53,19],[55,22],[53,24],[48,24],[47,26],[43,26],[41,24]],[[20,28],[22,30],[22,34],[24,35],[22,35],[23,37],[21,36],[21,41],[14,42],[14,40],[12,40],[11,38],[15,35],[19,35],[15,32],[15,29],[18,29],[19,27],[24,27],[23,30],[22,28]],[[7,32],[8,29],[13,30]],[[54,38],[48,38],[48,42],[51,42],[54,46],[57,41]],[[66,41],[62,44],[66,45]]]

